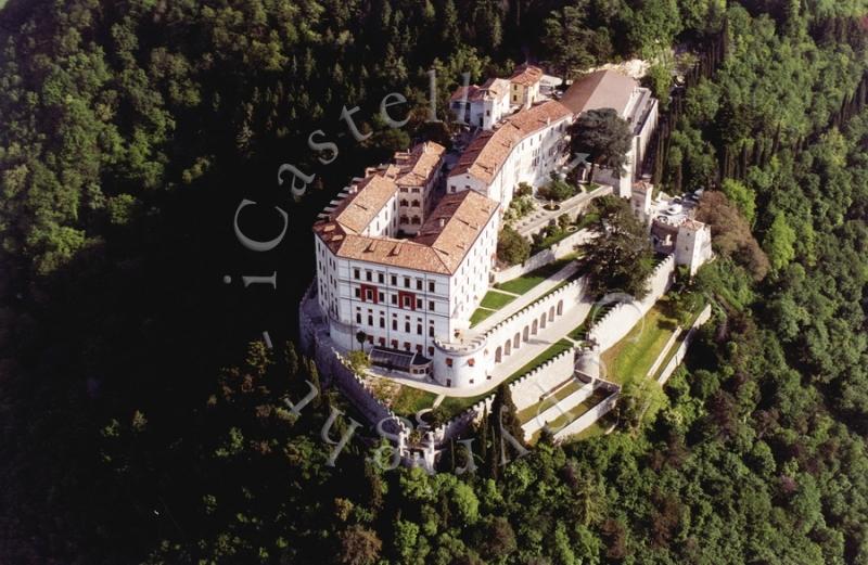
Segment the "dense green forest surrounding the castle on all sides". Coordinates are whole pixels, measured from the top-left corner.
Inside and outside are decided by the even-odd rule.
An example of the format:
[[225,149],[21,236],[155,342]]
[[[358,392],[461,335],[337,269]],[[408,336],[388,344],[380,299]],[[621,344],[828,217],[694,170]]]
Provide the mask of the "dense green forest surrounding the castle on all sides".
[[[864,0],[8,0],[0,561],[868,563],[867,15]],[[673,80],[669,46],[714,64]],[[316,214],[366,165],[446,141],[462,73],[630,56],[655,61],[667,104],[661,184],[716,189],[718,259],[685,288],[714,318],[652,413],[506,465],[483,426],[477,468],[433,476],[383,470],[360,428],[330,465],[321,428],[341,410],[341,437],[352,408],[285,402],[319,386],[292,346]],[[404,128],[376,117],[390,92]],[[318,129],[340,149],[328,165]],[[316,175],[301,197],[283,163]],[[290,214],[276,249],[239,245],[242,198]],[[271,216],[251,220],[273,235]],[[271,272],[276,288],[240,282]],[[443,471],[468,464],[444,453]]]

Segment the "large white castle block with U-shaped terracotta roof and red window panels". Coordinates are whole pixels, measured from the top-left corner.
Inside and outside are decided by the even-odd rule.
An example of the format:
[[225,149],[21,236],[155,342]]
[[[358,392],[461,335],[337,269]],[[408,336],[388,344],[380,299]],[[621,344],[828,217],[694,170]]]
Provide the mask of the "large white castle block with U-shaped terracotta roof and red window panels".
[[362,337],[374,358],[411,373],[430,371],[436,337],[469,325],[497,246],[498,203],[472,191],[445,196],[412,237],[398,239],[404,215],[419,214],[412,229],[424,214],[401,204],[414,194],[404,189],[429,198],[442,153],[422,144],[400,165],[369,170],[314,226],[318,301],[332,339],[357,349]]

